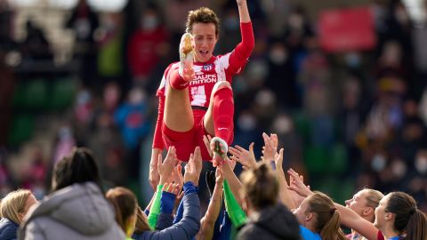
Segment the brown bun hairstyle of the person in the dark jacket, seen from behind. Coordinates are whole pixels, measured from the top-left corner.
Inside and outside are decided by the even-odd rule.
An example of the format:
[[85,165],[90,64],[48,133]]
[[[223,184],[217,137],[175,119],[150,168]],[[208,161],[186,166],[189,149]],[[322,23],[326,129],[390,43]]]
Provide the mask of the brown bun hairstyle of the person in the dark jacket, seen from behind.
[[261,164],[241,176],[245,196],[256,210],[273,206],[278,201],[278,181],[270,166]]

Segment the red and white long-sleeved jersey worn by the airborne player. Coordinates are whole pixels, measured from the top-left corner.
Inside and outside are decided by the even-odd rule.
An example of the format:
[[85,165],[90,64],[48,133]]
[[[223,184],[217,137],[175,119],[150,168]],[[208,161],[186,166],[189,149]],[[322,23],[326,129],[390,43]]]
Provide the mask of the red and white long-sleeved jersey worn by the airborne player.
[[[220,81],[232,82],[232,77],[242,72],[249,56],[254,49],[254,32],[252,22],[240,23],[242,41],[236,48],[225,55],[213,56],[206,62],[194,62],[195,78],[189,82],[189,100],[193,107],[208,108],[214,84]],[[165,108],[165,92],[170,88],[171,72],[178,71],[180,62],[174,62],[165,69],[159,88],[157,89],[158,117],[153,148],[164,148],[160,126],[163,124]],[[177,74],[173,76],[178,76]]]

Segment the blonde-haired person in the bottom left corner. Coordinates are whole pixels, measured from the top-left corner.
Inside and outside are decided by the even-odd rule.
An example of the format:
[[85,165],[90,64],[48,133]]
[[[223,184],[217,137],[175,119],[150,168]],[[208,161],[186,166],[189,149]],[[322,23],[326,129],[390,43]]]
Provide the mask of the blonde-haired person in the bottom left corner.
[[12,191],[0,202],[0,239],[17,239],[17,231],[29,208],[37,203],[27,189]]

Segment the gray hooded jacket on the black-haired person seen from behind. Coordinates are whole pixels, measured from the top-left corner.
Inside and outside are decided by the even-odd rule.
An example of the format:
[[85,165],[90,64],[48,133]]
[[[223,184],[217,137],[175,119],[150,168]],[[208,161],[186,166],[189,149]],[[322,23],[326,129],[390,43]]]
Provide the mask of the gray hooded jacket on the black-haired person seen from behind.
[[94,183],[74,184],[44,198],[28,212],[19,239],[124,240],[115,213]]

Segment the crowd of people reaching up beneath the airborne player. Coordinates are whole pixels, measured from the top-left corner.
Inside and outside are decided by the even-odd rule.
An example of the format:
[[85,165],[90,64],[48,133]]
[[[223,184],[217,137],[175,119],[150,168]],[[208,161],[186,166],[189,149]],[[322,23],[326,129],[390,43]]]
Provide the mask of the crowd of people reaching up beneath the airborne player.
[[[213,164],[214,171],[206,171],[205,182],[211,198],[203,216],[198,197],[203,168],[200,148],[210,151],[210,136],[205,136],[205,146],[196,147],[185,165],[177,159],[174,147],[168,148],[165,158],[158,155],[155,194],[145,211],[138,206],[136,196],[129,189],[112,188],[106,197],[102,196],[101,178],[91,152],[77,148],[55,167],[54,191],[34,211],[28,211],[30,204],[36,204],[28,191],[12,192],[3,199],[0,239],[4,233],[16,236],[19,225],[20,239],[58,239],[58,236],[68,236],[63,239],[122,239],[126,236],[126,239],[135,240],[427,239],[425,213],[417,208],[412,196],[403,192],[384,196],[366,188],[347,200],[346,206],[336,204],[326,194],[312,191],[298,172],[284,170],[285,153],[283,148],[278,149],[276,134],[263,133],[262,138],[264,146],[259,161],[254,156],[254,143],[247,149],[234,146],[228,148],[229,155],[224,161]],[[239,177],[234,172],[236,164],[245,168]],[[20,201],[16,200],[17,196],[24,195]],[[105,198],[114,206],[115,214],[110,212]],[[44,211],[59,204],[55,199],[62,199],[62,207],[52,212]],[[90,202],[96,203],[91,204],[93,211],[87,211]],[[22,213],[18,219],[8,215],[7,212],[22,212],[17,208],[20,205],[26,206],[26,212],[31,213],[25,218]],[[64,211],[87,224],[69,221]],[[101,221],[94,217],[84,218],[85,214],[98,216],[99,212],[104,214]],[[117,226],[112,224],[115,215]],[[65,219],[59,220],[59,217]],[[100,230],[98,235],[86,235],[95,223]],[[81,230],[64,225],[77,225]],[[349,236],[343,234],[342,225],[351,228]],[[58,229],[68,232],[64,234],[66,230]]]

